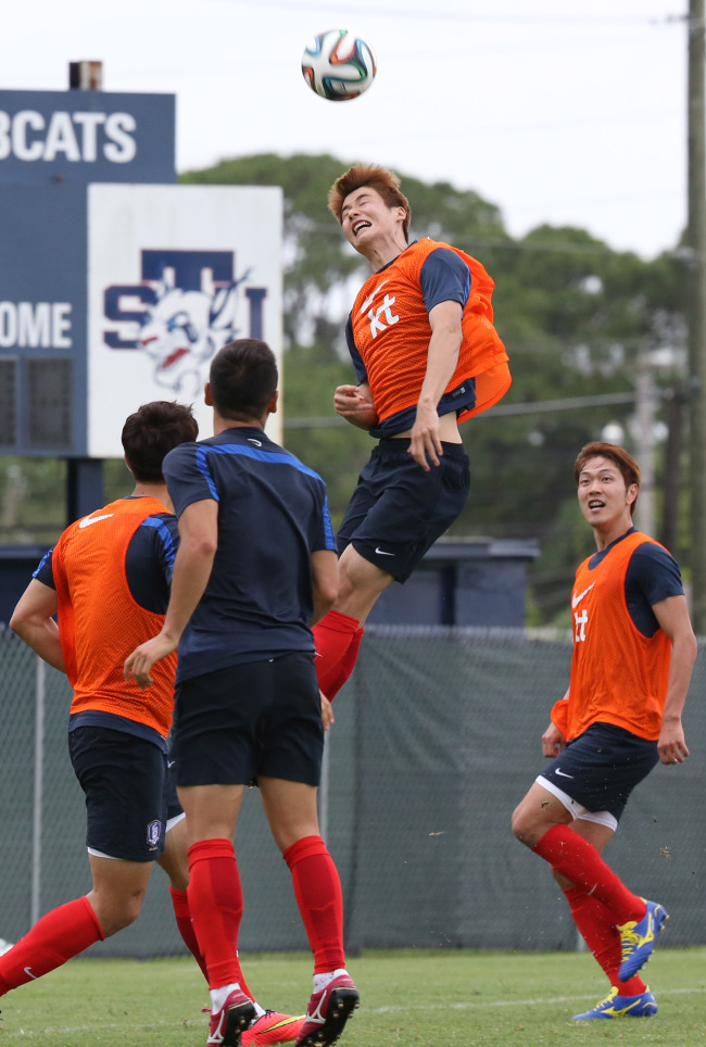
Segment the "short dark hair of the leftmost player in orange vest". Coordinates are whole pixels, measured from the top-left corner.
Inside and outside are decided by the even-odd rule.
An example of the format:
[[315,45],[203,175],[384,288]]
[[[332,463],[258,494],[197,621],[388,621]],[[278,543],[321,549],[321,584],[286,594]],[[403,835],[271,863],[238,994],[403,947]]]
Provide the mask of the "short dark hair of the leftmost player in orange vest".
[[199,436],[191,406],[154,400],[142,404],[123,426],[122,441],[130,472],[142,483],[164,480],[162,463],[173,447]]

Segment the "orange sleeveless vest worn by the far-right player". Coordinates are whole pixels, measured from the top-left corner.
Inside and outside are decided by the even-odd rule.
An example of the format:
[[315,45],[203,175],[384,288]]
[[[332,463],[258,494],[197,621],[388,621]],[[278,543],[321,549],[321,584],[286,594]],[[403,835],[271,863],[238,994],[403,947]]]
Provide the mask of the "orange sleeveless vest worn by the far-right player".
[[628,534],[593,570],[589,557],[576,572],[569,697],[552,711],[567,741],[596,722],[659,737],[671,642],[661,629],[654,636],[640,632],[625,594],[630,557],[645,542],[658,544],[639,531]]

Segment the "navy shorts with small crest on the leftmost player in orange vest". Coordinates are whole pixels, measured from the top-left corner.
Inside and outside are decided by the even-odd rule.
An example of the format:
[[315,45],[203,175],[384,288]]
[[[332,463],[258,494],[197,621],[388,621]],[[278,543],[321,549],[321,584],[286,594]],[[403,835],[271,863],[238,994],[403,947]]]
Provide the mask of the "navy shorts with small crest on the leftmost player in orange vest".
[[71,761],[86,794],[91,853],[154,861],[164,850],[166,756],[146,739],[104,727],[68,734]]

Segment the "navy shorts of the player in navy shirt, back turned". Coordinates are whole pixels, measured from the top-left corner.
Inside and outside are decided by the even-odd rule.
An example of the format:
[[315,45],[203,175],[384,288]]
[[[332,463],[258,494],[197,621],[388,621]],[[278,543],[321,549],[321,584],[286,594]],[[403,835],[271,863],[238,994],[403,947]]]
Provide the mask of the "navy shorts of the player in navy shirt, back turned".
[[179,785],[318,785],[324,727],[313,653],[228,666],[176,686],[169,759]]

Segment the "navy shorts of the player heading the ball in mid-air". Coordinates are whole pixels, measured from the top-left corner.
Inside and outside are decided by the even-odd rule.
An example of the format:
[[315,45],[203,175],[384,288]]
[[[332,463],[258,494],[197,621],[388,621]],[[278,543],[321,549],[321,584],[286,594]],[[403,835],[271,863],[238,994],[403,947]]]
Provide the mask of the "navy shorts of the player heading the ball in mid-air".
[[407,580],[468,501],[470,467],[459,443],[443,443],[425,472],[407,453],[409,440],[380,440],[358,477],[338,530],[339,554],[353,545],[395,581]]

